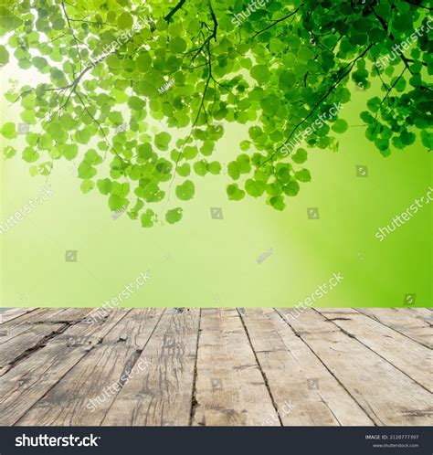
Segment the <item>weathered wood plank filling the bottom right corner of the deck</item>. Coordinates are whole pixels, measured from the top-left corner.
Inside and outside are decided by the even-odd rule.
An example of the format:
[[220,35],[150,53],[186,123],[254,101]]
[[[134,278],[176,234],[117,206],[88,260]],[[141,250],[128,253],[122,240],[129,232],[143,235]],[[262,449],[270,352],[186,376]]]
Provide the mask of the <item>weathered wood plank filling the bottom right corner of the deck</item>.
[[376,425],[433,423],[432,396],[394,365],[314,311],[290,321]]

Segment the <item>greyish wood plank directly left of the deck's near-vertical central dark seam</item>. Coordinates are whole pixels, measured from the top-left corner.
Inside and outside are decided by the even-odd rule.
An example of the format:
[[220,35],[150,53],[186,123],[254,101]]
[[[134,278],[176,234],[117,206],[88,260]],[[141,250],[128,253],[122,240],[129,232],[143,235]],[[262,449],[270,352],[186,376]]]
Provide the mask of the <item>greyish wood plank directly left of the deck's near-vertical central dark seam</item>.
[[102,425],[188,425],[199,310],[167,308],[140,359],[150,365],[121,388]]

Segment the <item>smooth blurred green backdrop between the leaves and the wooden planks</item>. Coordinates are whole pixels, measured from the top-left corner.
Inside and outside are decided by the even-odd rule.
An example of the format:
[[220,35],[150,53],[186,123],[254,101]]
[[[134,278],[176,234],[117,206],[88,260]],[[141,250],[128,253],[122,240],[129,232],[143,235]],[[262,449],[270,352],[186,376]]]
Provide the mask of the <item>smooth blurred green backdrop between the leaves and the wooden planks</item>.
[[[20,78],[13,65],[0,76],[6,81],[11,74]],[[146,270],[151,279],[121,306],[291,307],[338,272],[343,281],[316,306],[404,306],[407,294],[415,294],[416,306],[431,306],[433,203],[384,241],[375,238],[378,228],[427,194],[431,153],[416,143],[383,158],[360,126],[372,91],[352,89],[341,111],[351,128],[340,137],[340,151],[309,152],[312,183],[301,185],[283,212],[250,197],[229,202],[224,172],[195,177],[195,198],[182,205],[180,223],[171,226],[162,217],[145,229],[126,214],[113,219],[97,190],[81,194],[79,161],[55,163],[47,182],[30,177],[20,157],[24,136],[18,136],[19,153],[1,162],[0,222],[46,184],[54,196],[0,234],[1,306],[100,306]],[[2,103],[8,121],[19,122],[18,107]],[[226,127],[214,154],[224,164],[247,137],[245,127]],[[357,165],[368,176],[357,176]],[[174,192],[167,207],[173,206],[179,206]],[[223,219],[213,219],[211,207],[220,207]],[[308,207],[317,207],[319,219],[309,219]],[[77,262],[65,260],[66,250],[78,251]]]

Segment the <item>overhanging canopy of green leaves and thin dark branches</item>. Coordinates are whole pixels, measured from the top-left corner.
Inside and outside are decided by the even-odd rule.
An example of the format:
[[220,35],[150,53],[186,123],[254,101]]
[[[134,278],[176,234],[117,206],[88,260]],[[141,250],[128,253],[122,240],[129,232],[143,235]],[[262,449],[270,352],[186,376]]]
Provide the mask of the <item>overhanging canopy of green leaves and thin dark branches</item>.
[[[367,94],[373,79],[382,96],[365,102],[366,139],[384,156],[417,137],[431,150],[427,4],[277,0],[249,16],[247,6],[5,1],[0,67],[14,60],[39,74],[5,94],[29,125],[21,155],[31,174],[78,159],[83,193],[97,188],[111,210],[128,207],[145,228],[180,221],[176,205],[195,196],[195,175],[224,175],[229,200],[248,195],[283,210],[312,180],[307,149],[337,150],[350,127],[331,108],[351,101],[350,87]],[[317,127],[319,118],[327,120]],[[221,163],[216,142],[230,122],[246,125],[248,137]],[[14,122],[0,132],[11,158],[23,132]]]

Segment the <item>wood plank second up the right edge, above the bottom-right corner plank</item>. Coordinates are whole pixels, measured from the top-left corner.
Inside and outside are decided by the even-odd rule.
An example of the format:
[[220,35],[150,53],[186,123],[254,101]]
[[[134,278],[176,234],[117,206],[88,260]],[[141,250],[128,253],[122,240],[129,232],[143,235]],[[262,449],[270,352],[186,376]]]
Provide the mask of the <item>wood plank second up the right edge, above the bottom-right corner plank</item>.
[[344,318],[335,318],[329,313],[322,312],[320,308],[316,311],[432,392],[433,355],[426,346],[360,312],[346,314]]

